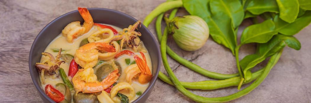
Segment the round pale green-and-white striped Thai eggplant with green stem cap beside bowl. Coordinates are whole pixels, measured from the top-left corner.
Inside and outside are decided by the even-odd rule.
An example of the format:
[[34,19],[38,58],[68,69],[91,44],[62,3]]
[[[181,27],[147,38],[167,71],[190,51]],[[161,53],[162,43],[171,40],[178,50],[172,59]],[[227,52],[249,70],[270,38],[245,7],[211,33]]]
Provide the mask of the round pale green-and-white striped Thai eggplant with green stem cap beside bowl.
[[173,34],[174,41],[183,50],[200,49],[209,37],[207,23],[198,16],[185,15],[172,20],[164,19],[168,25],[168,32]]

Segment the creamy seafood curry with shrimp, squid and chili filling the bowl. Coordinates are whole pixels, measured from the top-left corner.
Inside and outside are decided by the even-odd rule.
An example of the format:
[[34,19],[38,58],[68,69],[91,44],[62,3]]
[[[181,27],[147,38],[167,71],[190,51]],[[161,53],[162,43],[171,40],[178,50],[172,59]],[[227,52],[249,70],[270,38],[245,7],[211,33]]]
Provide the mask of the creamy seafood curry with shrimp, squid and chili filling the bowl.
[[141,22],[121,29],[94,23],[86,8],[78,11],[83,25],[65,26],[34,64],[45,93],[61,103],[134,101],[152,79],[151,59],[139,38]]

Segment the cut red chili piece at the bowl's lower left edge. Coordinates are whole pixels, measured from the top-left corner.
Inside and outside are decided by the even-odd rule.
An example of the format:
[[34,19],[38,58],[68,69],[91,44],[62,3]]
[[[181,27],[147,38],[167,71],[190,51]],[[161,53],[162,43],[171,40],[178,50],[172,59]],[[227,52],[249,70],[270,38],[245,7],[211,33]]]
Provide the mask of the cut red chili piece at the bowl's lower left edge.
[[45,86],[45,93],[55,102],[61,102],[65,99],[64,95],[50,84]]

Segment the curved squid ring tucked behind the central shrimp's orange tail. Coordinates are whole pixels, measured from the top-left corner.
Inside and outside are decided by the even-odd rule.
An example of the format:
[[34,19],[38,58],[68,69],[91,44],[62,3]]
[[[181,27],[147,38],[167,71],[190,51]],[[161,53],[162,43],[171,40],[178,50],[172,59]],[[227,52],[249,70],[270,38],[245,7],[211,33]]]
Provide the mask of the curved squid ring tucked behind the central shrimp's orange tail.
[[101,60],[109,60],[111,58],[114,58],[114,56],[120,52],[120,49],[121,49],[120,45],[116,41],[113,41],[112,43],[113,43],[114,48],[116,49],[116,52],[98,53],[98,58],[99,59],[101,59]]

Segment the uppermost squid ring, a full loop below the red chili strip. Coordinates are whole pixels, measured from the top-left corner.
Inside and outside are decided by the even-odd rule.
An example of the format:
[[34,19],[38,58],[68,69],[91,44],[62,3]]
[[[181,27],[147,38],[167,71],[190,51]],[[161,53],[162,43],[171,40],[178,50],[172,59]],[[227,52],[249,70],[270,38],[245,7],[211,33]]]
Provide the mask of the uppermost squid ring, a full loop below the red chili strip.
[[[109,37],[105,38],[105,39],[101,39],[100,37],[98,37],[100,34],[104,34],[104,33],[108,33]],[[93,34],[91,34],[87,40],[91,43],[91,42],[105,42],[108,43],[110,42],[110,39],[114,37],[114,32],[112,30],[110,30],[109,28],[103,28],[103,29],[99,29],[96,32],[94,32]]]

